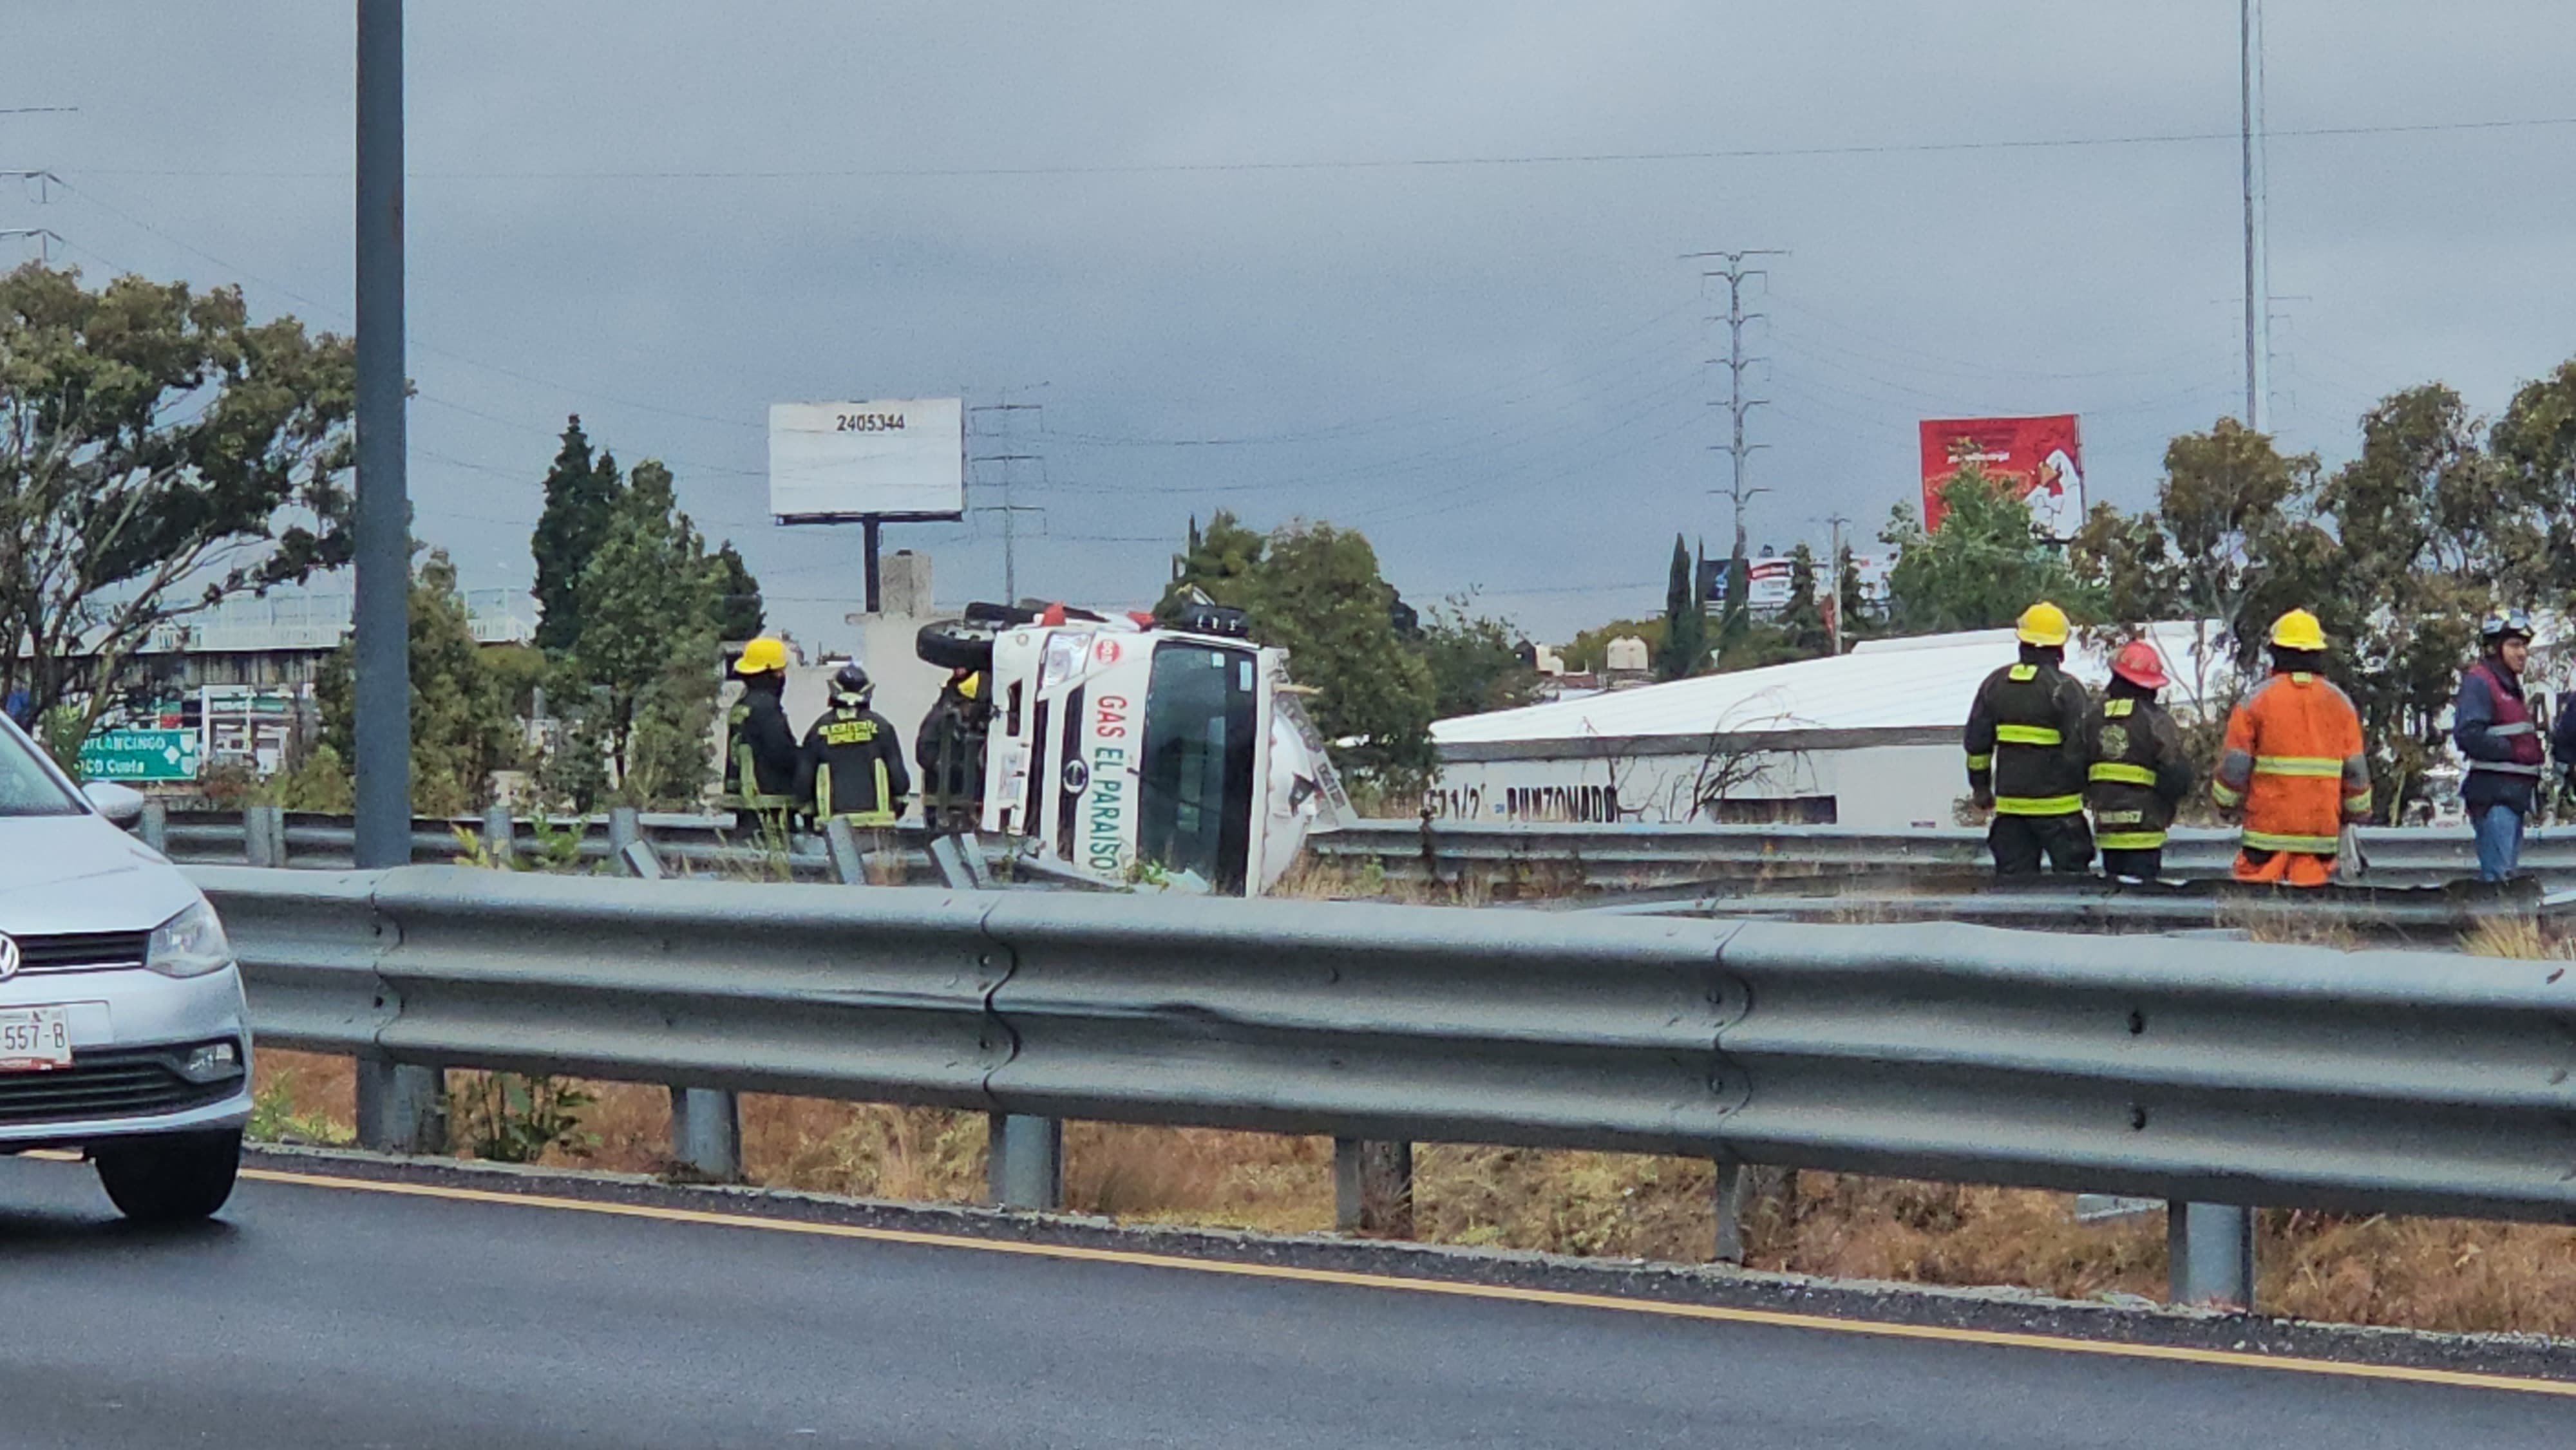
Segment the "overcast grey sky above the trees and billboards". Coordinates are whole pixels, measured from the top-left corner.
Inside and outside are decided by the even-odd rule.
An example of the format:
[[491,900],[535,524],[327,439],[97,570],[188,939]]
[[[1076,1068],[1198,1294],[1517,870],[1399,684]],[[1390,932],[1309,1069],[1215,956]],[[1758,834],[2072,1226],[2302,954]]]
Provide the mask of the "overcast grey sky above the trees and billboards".
[[[2576,118],[2568,5],[2272,0],[2267,33],[2287,443],[2336,458],[2388,389],[2496,410],[2576,355],[2576,126],[2293,134]],[[348,0],[8,0],[0,106],[77,113],[0,116],[0,170],[67,183],[0,188],[0,227],[345,330],[350,46]],[[765,407],[1007,391],[1043,433],[974,448],[1046,458],[1023,592],[1146,603],[1231,507],[1363,528],[1409,598],[1561,639],[1659,608],[1677,525],[1723,546],[1682,252],[1790,252],[1752,330],[1757,543],[1875,536],[1919,417],[2081,412],[2094,497],[2146,502],[2244,397],[2233,126],[2236,0],[415,0],[417,531],[526,587],[580,412],[829,644],[858,533],[768,523]],[[1904,149],[2079,139],[2133,142]],[[1270,165],[1814,147],[1891,149]],[[999,590],[992,520],[889,546],[935,551],[945,603]]]

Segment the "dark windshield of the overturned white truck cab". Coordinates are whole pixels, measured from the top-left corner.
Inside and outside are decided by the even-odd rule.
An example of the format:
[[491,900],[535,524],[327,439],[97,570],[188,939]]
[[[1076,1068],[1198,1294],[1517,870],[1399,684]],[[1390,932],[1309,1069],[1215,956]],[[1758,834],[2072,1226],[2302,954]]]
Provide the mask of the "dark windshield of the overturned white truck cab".
[[1154,646],[1144,695],[1136,855],[1216,891],[1242,891],[1252,858],[1257,731],[1249,649]]

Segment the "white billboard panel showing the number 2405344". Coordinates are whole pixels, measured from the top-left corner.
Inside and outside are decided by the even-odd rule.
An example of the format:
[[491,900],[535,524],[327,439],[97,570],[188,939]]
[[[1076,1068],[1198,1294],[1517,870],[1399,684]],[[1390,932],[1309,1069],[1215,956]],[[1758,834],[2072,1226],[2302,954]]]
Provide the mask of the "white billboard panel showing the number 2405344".
[[770,515],[781,523],[963,513],[963,399],[770,404]]

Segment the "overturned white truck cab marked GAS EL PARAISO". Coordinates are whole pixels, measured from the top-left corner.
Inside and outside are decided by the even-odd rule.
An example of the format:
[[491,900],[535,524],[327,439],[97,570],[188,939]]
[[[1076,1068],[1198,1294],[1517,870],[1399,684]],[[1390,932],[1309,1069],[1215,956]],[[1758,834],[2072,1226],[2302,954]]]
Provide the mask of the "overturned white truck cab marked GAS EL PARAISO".
[[976,605],[948,631],[989,639],[992,726],[981,829],[1103,883],[1257,896],[1350,798],[1288,683],[1288,652],[1244,616],[1193,608],[1182,628]]

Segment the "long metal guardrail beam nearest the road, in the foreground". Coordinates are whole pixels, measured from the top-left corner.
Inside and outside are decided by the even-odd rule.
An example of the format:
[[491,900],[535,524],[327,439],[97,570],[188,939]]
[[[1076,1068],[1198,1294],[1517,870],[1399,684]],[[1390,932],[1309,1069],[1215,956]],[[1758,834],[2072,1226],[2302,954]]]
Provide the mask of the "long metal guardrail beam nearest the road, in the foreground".
[[265,1040],[1337,1138],[2576,1221],[2566,963],[464,868],[196,868]]

